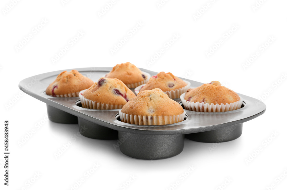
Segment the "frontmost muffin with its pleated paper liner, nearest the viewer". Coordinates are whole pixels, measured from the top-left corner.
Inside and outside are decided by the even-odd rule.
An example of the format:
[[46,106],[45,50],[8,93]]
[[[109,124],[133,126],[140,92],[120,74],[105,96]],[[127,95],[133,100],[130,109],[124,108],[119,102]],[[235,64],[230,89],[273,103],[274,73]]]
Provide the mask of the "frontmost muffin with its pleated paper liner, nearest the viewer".
[[137,125],[164,125],[184,120],[185,111],[162,90],[144,90],[119,110],[122,122]]

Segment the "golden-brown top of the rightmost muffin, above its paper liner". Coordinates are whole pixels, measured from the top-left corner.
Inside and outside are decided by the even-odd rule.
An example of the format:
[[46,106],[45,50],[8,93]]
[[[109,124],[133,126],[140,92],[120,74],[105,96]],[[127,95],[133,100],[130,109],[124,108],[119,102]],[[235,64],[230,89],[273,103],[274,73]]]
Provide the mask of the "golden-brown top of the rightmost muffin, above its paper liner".
[[189,102],[225,105],[237,102],[240,97],[233,90],[221,86],[220,82],[212,81],[197,88],[188,89],[184,99]]

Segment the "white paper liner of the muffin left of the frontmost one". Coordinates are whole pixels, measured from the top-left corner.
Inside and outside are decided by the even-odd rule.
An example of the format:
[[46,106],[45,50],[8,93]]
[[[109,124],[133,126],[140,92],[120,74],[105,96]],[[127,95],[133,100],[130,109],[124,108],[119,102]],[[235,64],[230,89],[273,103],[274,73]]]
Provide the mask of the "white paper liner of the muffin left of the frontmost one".
[[114,109],[121,109],[123,107],[123,105],[104,104],[87,99],[82,95],[83,92],[85,92],[86,90],[82,90],[79,92],[79,98],[81,100],[83,108],[95,109],[95,110],[114,110]]

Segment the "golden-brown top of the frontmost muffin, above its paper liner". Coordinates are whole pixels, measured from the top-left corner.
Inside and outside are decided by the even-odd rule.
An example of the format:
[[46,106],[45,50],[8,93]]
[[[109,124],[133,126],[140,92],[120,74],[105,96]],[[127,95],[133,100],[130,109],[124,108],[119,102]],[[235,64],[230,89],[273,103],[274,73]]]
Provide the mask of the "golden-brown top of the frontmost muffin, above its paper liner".
[[170,116],[182,114],[183,108],[162,90],[155,88],[139,92],[123,106],[121,111],[125,114],[142,116]]

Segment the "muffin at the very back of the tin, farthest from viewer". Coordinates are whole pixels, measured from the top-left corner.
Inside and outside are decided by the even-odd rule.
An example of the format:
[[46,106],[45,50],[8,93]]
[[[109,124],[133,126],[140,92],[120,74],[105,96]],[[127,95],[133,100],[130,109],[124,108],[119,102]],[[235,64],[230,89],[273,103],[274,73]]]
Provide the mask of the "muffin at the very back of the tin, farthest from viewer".
[[133,64],[126,62],[114,66],[105,77],[117,78],[123,81],[128,88],[135,88],[141,84],[145,84],[149,80],[150,74],[142,72]]

